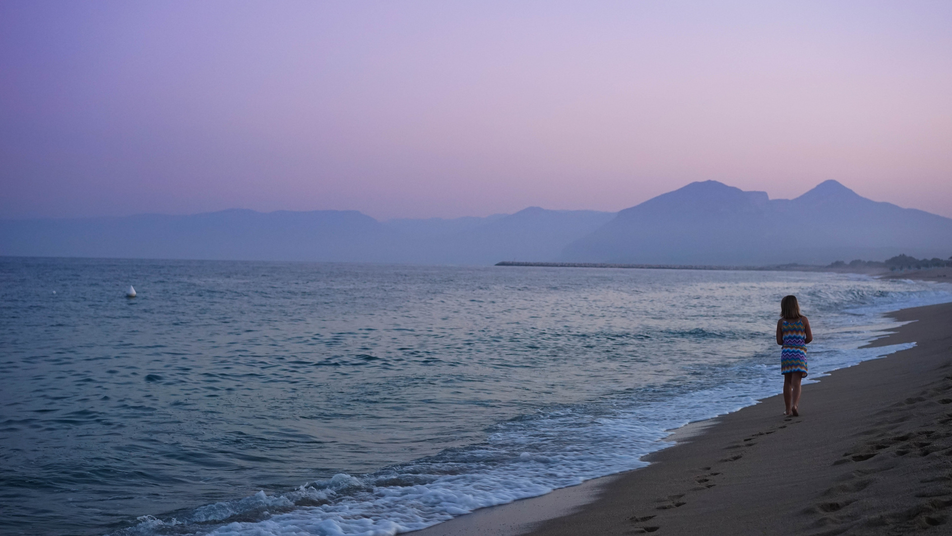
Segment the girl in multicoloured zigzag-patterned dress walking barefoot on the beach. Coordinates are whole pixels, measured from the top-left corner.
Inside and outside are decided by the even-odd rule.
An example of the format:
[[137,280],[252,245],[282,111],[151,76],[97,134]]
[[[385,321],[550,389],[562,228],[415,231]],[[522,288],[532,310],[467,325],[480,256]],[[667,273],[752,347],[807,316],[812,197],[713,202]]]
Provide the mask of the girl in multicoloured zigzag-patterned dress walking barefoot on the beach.
[[777,344],[780,351],[780,373],[783,374],[784,415],[799,417],[800,382],[806,377],[806,345],[813,340],[810,321],[800,314],[796,296],[783,296],[777,321]]

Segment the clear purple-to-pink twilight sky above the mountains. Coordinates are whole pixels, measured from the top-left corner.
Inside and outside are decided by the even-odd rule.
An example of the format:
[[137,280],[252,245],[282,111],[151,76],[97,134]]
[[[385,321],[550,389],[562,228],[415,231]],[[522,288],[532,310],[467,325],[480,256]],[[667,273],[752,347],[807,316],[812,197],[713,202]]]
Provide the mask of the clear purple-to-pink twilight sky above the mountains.
[[0,217],[617,210],[706,179],[952,217],[949,29],[944,0],[4,0]]

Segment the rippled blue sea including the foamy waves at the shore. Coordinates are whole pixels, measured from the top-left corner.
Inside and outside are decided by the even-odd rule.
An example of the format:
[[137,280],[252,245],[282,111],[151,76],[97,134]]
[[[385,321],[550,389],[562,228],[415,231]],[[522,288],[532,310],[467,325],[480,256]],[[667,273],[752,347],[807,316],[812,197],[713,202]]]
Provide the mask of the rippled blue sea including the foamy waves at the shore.
[[842,273],[0,258],[0,531],[390,535],[644,467],[780,392],[786,294],[809,381],[913,346],[860,348],[884,312],[952,302]]

